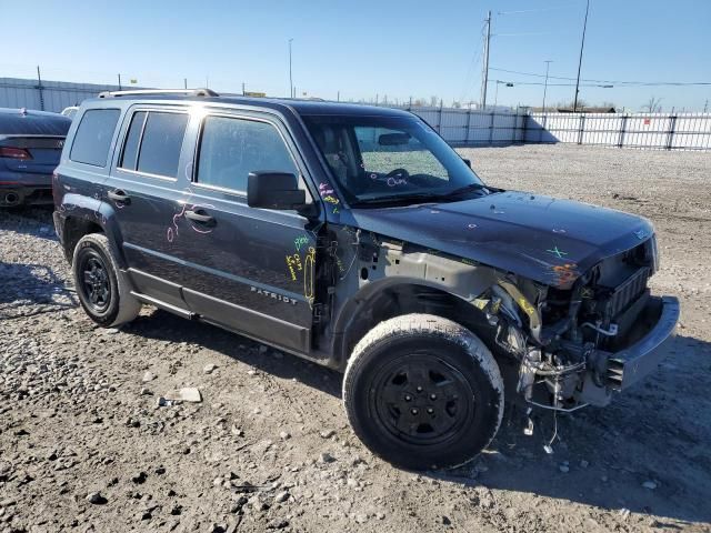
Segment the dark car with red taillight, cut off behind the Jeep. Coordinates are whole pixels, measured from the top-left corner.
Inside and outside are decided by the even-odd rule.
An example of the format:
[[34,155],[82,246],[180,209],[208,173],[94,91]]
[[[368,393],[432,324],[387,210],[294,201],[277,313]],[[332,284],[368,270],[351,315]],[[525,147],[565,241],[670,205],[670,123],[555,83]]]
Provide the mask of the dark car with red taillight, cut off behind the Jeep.
[[52,203],[71,119],[58,113],[0,108],[0,208]]

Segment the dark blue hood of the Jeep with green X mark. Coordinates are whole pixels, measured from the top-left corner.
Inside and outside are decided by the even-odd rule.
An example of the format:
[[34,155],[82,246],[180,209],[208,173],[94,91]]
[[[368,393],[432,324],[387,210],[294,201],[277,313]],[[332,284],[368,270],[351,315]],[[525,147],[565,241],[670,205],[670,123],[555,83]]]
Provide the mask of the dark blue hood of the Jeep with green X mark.
[[356,227],[569,288],[599,261],[651,238],[640,217],[504,191],[459,202],[353,209]]

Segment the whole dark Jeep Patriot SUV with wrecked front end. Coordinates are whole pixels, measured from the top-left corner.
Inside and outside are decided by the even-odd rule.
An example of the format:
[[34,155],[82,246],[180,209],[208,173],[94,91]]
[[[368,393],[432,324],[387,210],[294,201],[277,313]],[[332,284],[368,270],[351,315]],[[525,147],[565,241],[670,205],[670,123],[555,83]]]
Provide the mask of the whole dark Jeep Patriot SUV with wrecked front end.
[[504,398],[605,405],[679,319],[647,220],[488,187],[404,111],[104,93],[53,193],[93,321],[150,304],[344,371],[353,430],[405,467],[475,456]]

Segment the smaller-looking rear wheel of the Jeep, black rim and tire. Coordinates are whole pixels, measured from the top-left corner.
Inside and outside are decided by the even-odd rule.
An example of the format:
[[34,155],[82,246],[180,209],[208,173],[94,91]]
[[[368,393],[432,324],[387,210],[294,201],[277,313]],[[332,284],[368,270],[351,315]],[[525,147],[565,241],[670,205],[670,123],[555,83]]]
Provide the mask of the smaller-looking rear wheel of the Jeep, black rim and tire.
[[71,270],[79,302],[97,324],[116,328],[138,316],[141,303],[131,295],[103,233],[90,233],[79,240]]

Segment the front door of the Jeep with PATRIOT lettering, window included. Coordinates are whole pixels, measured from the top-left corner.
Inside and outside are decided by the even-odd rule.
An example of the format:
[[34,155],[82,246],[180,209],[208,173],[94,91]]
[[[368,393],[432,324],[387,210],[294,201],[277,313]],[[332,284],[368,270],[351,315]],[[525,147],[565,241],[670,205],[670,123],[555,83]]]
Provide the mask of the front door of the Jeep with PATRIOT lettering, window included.
[[250,208],[246,195],[249,172],[306,175],[288,129],[267,113],[209,111],[193,134],[170,244],[184,300],[203,319],[308,353],[318,221]]

